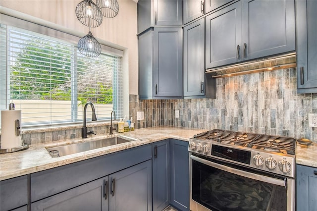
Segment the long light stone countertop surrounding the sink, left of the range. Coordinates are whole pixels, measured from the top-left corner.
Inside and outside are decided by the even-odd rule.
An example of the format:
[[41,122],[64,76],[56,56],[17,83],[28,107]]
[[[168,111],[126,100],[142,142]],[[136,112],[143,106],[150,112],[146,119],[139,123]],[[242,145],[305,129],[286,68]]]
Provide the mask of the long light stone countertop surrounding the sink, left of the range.
[[[70,164],[88,158],[103,156],[109,153],[118,152],[121,150],[149,144],[164,139],[175,138],[178,140],[189,141],[189,138],[192,138],[195,134],[204,131],[206,130],[160,126],[136,129],[134,131],[125,133],[114,133],[113,135],[92,136],[88,137],[87,139],[71,139],[56,141],[52,143],[33,144],[30,145],[29,149],[24,151],[0,154],[0,181]],[[49,152],[46,150],[46,148],[48,147],[73,144],[114,136],[126,136],[137,140],[82,153],[62,156],[59,158],[52,158]]]

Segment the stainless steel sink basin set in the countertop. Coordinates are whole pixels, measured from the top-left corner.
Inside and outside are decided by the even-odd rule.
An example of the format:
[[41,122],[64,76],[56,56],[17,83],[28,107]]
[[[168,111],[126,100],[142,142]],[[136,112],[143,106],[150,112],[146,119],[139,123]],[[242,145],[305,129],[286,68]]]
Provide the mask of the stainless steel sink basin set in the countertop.
[[122,137],[111,137],[106,139],[100,139],[95,141],[87,141],[76,144],[62,145],[57,147],[50,147],[46,150],[50,153],[52,158],[61,156],[67,156],[75,153],[81,153],[88,150],[94,150],[102,147],[108,147],[116,144],[122,144],[129,141],[135,141],[136,139],[122,138]]

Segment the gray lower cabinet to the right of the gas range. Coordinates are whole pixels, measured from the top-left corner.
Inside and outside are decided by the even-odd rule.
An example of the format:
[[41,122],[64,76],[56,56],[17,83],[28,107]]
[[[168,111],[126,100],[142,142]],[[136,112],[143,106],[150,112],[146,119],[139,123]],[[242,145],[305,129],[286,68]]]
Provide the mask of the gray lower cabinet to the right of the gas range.
[[317,209],[317,168],[296,165],[296,207],[297,211]]

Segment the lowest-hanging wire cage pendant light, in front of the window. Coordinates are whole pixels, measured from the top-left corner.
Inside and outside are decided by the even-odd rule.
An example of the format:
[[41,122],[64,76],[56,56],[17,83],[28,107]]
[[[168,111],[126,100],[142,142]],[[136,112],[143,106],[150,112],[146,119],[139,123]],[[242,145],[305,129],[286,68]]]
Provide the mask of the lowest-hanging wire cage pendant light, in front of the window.
[[88,35],[79,40],[78,50],[83,55],[97,57],[101,53],[101,45],[89,31]]

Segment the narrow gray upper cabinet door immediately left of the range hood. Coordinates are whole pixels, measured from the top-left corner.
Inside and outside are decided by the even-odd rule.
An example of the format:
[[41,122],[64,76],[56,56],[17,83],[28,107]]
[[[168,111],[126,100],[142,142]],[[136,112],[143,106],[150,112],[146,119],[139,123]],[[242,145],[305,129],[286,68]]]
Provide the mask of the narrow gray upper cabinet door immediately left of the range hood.
[[184,97],[205,95],[205,19],[184,27]]

